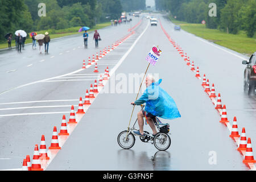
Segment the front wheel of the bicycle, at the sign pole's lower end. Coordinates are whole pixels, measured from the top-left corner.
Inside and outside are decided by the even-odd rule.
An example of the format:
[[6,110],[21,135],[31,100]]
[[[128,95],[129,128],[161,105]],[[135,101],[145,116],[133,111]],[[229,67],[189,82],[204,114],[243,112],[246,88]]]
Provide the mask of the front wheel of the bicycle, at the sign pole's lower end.
[[119,135],[117,137],[117,142],[118,142],[120,147],[125,148],[125,149],[129,149],[129,148],[134,146],[135,137],[132,133],[129,133],[127,135],[127,130],[122,131],[121,133],[119,133]]

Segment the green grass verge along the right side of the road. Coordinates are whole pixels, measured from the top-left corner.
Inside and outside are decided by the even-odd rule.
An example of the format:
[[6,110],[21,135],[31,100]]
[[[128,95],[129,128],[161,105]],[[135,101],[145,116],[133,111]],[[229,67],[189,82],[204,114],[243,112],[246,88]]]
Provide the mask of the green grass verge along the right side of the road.
[[238,34],[227,34],[217,29],[210,29],[205,24],[187,23],[171,19],[172,23],[179,24],[180,27],[191,34],[214,42],[220,46],[240,52],[243,55],[250,56],[256,51],[256,36],[248,38],[244,31]]

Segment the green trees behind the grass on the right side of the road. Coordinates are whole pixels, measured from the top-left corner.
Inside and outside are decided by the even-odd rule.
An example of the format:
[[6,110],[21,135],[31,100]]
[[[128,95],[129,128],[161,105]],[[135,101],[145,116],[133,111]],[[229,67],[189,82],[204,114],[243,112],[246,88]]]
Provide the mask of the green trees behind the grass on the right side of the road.
[[[217,7],[209,16],[210,3]],[[170,11],[172,18],[188,23],[205,20],[208,28],[237,34],[240,30],[253,37],[256,31],[256,0],[155,0],[157,10]]]

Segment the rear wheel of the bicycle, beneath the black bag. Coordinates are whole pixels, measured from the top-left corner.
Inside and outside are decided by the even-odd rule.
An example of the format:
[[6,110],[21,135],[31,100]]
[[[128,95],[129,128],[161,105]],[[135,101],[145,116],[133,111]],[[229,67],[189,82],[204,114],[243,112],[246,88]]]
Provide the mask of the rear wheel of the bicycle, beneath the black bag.
[[154,146],[158,150],[167,150],[171,145],[171,138],[166,133],[157,133],[154,138]]

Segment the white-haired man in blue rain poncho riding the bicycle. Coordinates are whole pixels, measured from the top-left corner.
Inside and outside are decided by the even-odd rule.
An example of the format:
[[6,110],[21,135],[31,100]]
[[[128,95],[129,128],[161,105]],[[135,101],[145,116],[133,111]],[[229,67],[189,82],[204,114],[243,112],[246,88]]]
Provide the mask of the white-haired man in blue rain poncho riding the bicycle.
[[131,102],[132,105],[141,105],[146,102],[146,106],[144,107],[144,109],[139,111],[139,113],[137,114],[139,131],[133,131],[133,133],[135,135],[138,135],[139,137],[146,136],[143,133],[143,117],[145,116],[148,125],[150,125],[153,131],[153,135],[158,133],[158,131],[156,131],[156,127],[154,122],[152,121],[152,118],[160,117],[164,119],[175,119],[181,117],[172,97],[169,96],[168,93],[162,88],[160,88],[159,84],[161,82],[162,79],[155,82],[155,78],[151,75],[148,75],[145,80],[145,84],[147,87],[146,90],[137,101]]

